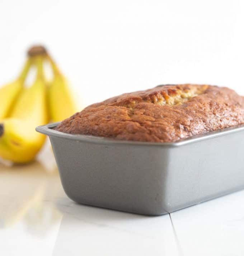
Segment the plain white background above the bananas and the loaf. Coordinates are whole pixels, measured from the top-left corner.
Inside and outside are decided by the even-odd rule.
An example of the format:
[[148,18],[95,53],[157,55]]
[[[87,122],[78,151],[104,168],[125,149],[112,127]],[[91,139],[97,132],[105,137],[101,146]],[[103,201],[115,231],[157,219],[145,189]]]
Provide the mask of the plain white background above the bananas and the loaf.
[[0,0],[0,85],[47,46],[91,104],[164,83],[244,94],[244,1]]

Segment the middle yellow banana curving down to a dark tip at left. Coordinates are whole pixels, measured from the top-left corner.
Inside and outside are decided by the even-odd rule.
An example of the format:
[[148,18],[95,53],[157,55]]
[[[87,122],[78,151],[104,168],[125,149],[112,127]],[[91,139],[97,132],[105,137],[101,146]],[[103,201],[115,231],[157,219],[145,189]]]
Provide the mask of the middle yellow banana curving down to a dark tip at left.
[[36,81],[23,89],[9,118],[0,121],[0,156],[18,163],[34,159],[45,140],[35,128],[48,122],[43,57],[32,59],[37,66]]

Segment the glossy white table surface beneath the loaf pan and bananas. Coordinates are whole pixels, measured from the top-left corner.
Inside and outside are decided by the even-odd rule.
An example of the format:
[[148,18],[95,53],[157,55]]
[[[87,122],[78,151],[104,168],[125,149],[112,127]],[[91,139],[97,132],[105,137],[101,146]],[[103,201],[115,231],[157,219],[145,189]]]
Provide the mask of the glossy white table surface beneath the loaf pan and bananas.
[[0,166],[0,255],[244,255],[244,190],[163,216],[78,205],[39,163]]

